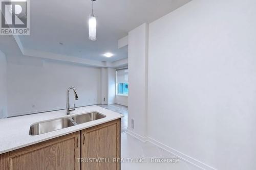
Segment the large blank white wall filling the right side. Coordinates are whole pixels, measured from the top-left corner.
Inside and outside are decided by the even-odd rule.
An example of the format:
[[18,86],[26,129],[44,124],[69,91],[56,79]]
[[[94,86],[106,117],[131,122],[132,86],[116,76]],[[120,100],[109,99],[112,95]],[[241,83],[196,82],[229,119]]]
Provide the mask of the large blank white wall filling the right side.
[[150,24],[149,137],[216,169],[256,169],[255,16],[254,0],[194,0]]

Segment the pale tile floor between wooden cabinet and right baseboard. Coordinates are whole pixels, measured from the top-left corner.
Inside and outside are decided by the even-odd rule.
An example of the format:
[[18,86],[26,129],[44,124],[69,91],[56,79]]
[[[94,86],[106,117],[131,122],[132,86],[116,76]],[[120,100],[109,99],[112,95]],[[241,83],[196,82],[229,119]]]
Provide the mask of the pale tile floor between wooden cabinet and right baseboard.
[[[126,158],[145,158],[145,160],[151,160],[151,158],[178,159],[172,154],[156,147],[154,144],[150,142],[144,143],[127,133],[122,133],[121,143],[121,157],[126,161],[128,161]],[[178,163],[128,162],[121,164],[121,170],[200,170],[200,168],[181,160]]]

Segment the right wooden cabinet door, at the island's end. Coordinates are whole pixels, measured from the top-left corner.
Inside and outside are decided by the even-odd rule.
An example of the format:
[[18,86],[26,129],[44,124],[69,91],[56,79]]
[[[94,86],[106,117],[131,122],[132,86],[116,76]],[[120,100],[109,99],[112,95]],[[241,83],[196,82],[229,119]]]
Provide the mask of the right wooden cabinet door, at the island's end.
[[120,119],[81,131],[82,170],[120,170]]

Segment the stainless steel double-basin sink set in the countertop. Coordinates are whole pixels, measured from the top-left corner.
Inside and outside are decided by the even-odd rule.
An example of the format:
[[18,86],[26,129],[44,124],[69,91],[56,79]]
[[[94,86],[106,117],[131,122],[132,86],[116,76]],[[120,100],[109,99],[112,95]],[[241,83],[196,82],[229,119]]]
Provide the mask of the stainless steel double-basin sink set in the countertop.
[[106,117],[98,112],[84,113],[80,115],[74,115],[71,117],[47,120],[45,122],[36,123],[30,126],[29,135],[40,135],[52,131],[56,131],[63,128],[72,127],[75,125],[91,122],[93,120]]

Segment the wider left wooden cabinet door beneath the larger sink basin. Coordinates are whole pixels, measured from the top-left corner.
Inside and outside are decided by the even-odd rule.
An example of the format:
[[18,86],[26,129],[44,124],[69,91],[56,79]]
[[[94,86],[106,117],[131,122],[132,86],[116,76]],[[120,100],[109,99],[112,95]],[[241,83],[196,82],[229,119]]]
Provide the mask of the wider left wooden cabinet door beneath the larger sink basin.
[[[5,154],[11,170],[79,170],[80,132],[47,140]],[[5,156],[5,157],[7,157]],[[0,156],[1,157],[1,156]],[[3,155],[4,157],[4,155]],[[2,168],[0,168],[2,170]]]

